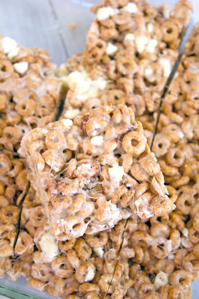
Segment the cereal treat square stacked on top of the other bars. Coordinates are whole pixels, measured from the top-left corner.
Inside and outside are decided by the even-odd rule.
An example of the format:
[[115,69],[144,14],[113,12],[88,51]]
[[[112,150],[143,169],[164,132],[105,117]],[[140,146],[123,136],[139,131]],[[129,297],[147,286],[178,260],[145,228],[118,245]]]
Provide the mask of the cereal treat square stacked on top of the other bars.
[[29,132],[19,153],[57,239],[113,227],[175,208],[140,122],[124,105],[105,105]]

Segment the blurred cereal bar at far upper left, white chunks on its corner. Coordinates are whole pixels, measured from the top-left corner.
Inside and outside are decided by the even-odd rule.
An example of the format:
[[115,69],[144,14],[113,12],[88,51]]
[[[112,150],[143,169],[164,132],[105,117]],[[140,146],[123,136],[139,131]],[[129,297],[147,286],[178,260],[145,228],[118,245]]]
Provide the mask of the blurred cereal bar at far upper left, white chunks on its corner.
[[[18,150],[21,138],[55,119],[61,83],[46,50],[0,37],[0,148]],[[48,77],[47,77],[48,75]]]

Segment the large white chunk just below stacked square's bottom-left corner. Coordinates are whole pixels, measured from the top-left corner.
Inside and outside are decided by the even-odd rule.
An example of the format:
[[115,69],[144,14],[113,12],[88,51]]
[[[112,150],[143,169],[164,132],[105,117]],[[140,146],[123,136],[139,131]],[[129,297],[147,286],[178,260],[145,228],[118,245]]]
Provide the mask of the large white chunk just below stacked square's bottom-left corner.
[[49,258],[53,259],[59,254],[59,248],[55,238],[50,233],[45,233],[39,242],[42,252]]

